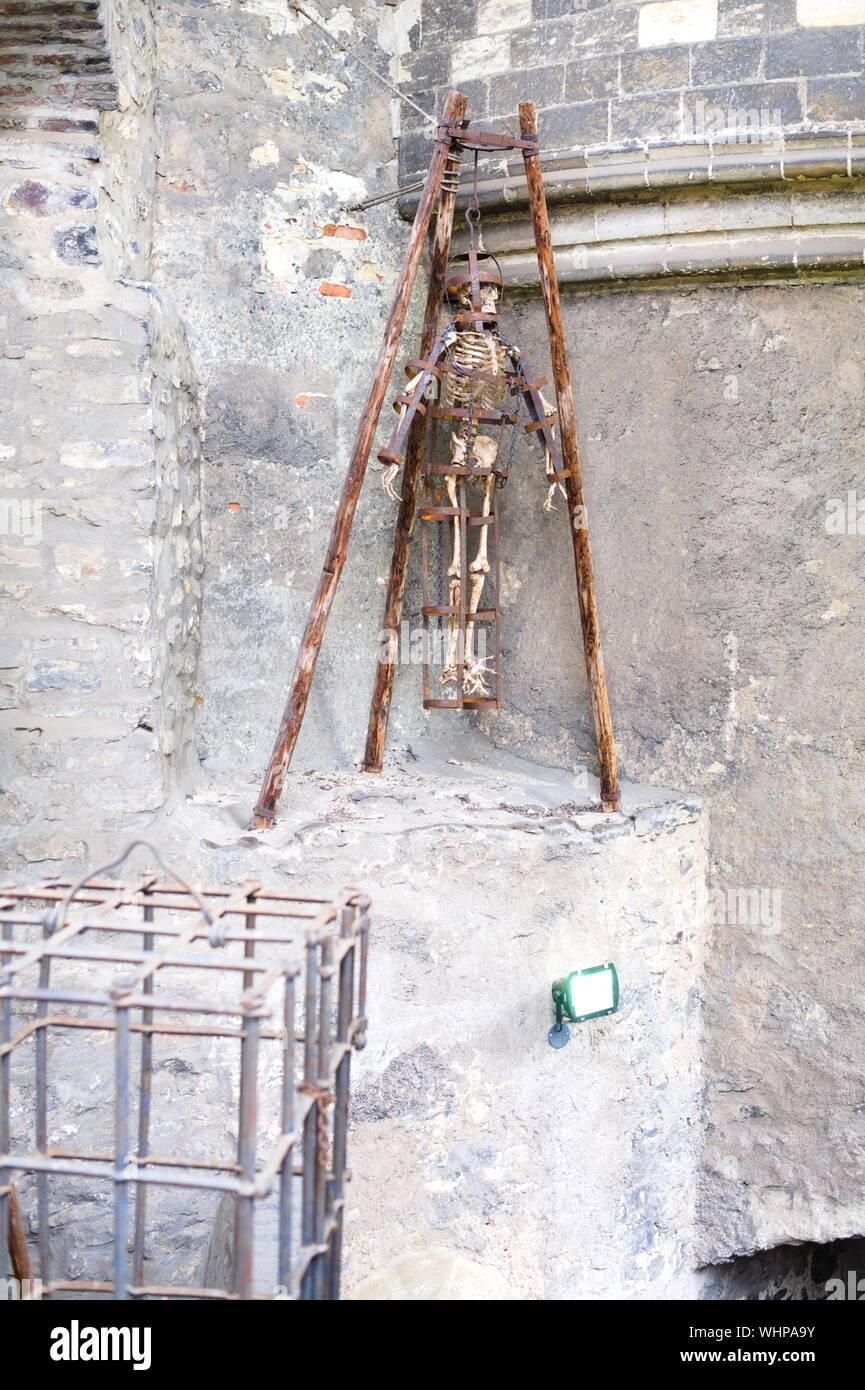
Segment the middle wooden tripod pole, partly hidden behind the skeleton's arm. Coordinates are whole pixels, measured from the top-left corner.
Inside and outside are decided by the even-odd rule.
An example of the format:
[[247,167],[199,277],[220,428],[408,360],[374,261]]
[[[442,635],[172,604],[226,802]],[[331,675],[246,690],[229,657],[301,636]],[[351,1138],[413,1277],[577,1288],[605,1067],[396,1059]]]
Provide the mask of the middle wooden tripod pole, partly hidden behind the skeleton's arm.
[[[456,103],[453,120],[459,121],[466,114],[466,97],[460,96]],[[438,332],[438,317],[445,297],[445,277],[448,271],[448,253],[451,250],[451,232],[453,228],[453,204],[456,193],[452,192],[459,175],[460,152],[451,150],[448,163],[448,179],[441,190],[438,203],[438,217],[435,220],[435,240],[432,245],[432,261],[430,265],[430,286],[427,289],[427,309],[424,313],[423,332],[420,339],[420,357],[426,360],[435,335]],[[420,481],[420,464],[423,460],[426,436],[426,420],[416,414],[409,432],[409,446],[406,461],[402,470],[402,495],[396,527],[394,531],[394,555],[391,559],[391,577],[388,580],[388,596],[384,609],[384,632],[387,645],[384,657],[380,651],[375,684],[373,687],[373,701],[370,705],[370,723],[366,735],[366,751],[362,767],[366,773],[381,771],[381,758],[384,741],[388,731],[388,716],[391,713],[391,695],[394,694],[394,676],[396,674],[395,648],[399,642],[399,624],[402,621],[402,603],[406,592],[406,574],[409,569],[409,550],[412,546],[412,528],[414,525],[414,510],[417,506],[417,485]]]

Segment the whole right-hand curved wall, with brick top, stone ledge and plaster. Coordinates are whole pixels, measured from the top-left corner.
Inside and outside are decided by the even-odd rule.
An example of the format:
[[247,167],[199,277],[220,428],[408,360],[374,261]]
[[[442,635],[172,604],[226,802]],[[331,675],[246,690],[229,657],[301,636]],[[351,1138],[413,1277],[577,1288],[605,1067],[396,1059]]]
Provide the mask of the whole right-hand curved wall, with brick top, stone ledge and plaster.
[[[403,63],[427,107],[445,49],[445,81],[484,121],[513,129],[517,99],[537,103],[560,278],[592,291],[566,296],[565,322],[622,763],[712,806],[701,1255],[843,1238],[862,1230],[865,1155],[865,14],[694,0],[528,28],[526,13],[430,7]],[[460,68],[481,53],[483,72]],[[592,100],[565,97],[580,72]],[[694,131],[698,97],[782,114]],[[421,147],[403,142],[406,174]],[[487,161],[481,202],[513,286],[505,332],[544,371],[517,161]],[[573,574],[542,491],[523,449],[502,495],[506,699],[480,724],[558,764],[591,758],[592,733],[581,701],[574,717]]]

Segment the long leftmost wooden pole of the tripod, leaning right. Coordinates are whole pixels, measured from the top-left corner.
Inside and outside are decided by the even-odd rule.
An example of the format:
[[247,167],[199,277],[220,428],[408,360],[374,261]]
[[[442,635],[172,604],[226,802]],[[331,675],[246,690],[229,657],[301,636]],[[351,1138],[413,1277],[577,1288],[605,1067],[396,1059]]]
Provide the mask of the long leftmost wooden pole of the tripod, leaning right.
[[[459,118],[456,113],[460,103],[463,103],[464,107],[464,100],[466,99],[459,92],[448,93],[442,113],[442,125]],[[355,509],[357,507],[357,498],[360,496],[363,477],[366,474],[367,460],[370,457],[373,435],[375,434],[375,425],[378,424],[378,416],[381,414],[388,378],[394,367],[402,325],[405,322],[409,299],[414,286],[414,277],[417,275],[417,265],[420,263],[427,229],[430,227],[430,218],[438,199],[442,174],[451,149],[452,138],[444,132],[439,133],[432,150],[432,160],[427,172],[424,190],[414,215],[414,225],[412,227],[412,235],[409,238],[405,265],[402,268],[402,275],[399,277],[399,285],[396,286],[391,317],[388,318],[387,328],[384,331],[384,341],[375,364],[375,375],[373,377],[370,396],[360,420],[357,438],[355,441],[355,452],[352,453],[349,470],[342,486],[342,496],[339,498],[339,506],[337,507],[334,530],[331,532],[330,545],[324,557],[324,569],[321,571],[318,588],[316,589],[316,596],[313,598],[306,630],[300,642],[300,651],[295,664],[288,702],[285,705],[285,712],[282,714],[282,721],[280,724],[280,731],[277,734],[267,773],[261,784],[259,803],[254,809],[253,827],[256,830],[261,830],[263,827],[273,824],[277,802],[285,781],[285,773],[288,771],[295,744],[298,742],[298,734],[300,733],[300,724],[303,723],[303,714],[306,713],[309,688],[313,681],[316,662],[321,648],[321,638],[324,637],[324,628],[331,610],[331,603],[334,602],[337,585],[339,584],[345,566],[348,541],[352,531],[352,521],[355,520]]]

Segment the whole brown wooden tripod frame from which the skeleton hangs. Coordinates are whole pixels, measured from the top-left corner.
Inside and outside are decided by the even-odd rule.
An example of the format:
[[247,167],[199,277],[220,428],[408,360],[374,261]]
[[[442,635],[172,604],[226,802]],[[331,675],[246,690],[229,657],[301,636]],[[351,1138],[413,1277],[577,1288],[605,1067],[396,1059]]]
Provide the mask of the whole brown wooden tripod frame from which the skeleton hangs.
[[[309,689],[316,670],[318,649],[324,637],[324,627],[331,610],[331,603],[337,592],[337,585],[345,566],[349,534],[355,518],[355,509],[363,484],[366,466],[373,445],[373,435],[378,424],[384,396],[396,357],[399,338],[409,306],[409,297],[417,275],[417,267],[423,245],[430,228],[432,211],[438,207],[435,220],[435,236],[432,242],[432,261],[430,267],[430,285],[427,289],[427,307],[423,321],[420,356],[426,357],[432,348],[438,329],[438,320],[445,292],[445,271],[448,252],[451,246],[451,232],[453,227],[453,204],[456,202],[456,179],[463,150],[477,149],[522,150],[526,164],[526,179],[528,183],[528,199],[531,203],[531,217],[534,224],[534,240],[541,272],[541,293],[547,311],[547,328],[549,335],[549,353],[552,359],[552,374],[556,391],[556,404],[559,411],[562,460],[567,474],[567,510],[570,516],[570,534],[573,539],[574,564],[577,571],[577,596],[580,602],[580,623],[583,627],[583,649],[585,655],[585,670],[591,692],[592,716],[595,723],[595,738],[598,744],[598,763],[601,774],[601,805],[604,810],[616,810],[619,806],[619,780],[616,771],[616,746],[613,742],[613,728],[606,698],[606,677],[604,671],[604,651],[601,646],[601,628],[595,606],[595,588],[592,580],[591,550],[588,545],[588,528],[585,524],[585,507],[583,503],[583,481],[580,473],[580,456],[577,452],[577,432],[574,424],[573,393],[570,388],[570,370],[567,366],[567,350],[565,348],[565,334],[562,329],[562,309],[559,303],[559,285],[556,281],[552,257],[552,242],[549,238],[549,218],[547,214],[547,199],[544,196],[544,179],[541,175],[541,156],[537,136],[537,120],[534,106],[530,101],[520,104],[520,135],[519,139],[508,135],[494,135],[488,131],[474,129],[466,120],[466,97],[462,92],[451,92],[445,101],[441,124],[435,135],[435,146],[430,170],[424,182],[405,265],[396,288],[394,307],[384,332],[384,341],[370,396],[363,411],[355,450],[349,463],[349,470],[342,486],[342,496],[334,520],[330,545],[324,559],[324,569],[316,589],[306,631],[300,642],[300,652],[292,677],[291,691],[261,794],[254,809],[253,826],[264,828],[273,824],[277,802],[282,791],[285,774],[300,733]],[[402,603],[406,587],[406,571],[414,512],[417,506],[417,488],[420,478],[421,453],[424,443],[424,420],[420,414],[414,418],[406,449],[406,460],[402,477],[402,499],[396,517],[394,535],[394,555],[391,559],[391,577],[388,581],[388,596],[385,605],[384,628],[387,632],[398,632],[402,619]],[[370,723],[367,728],[366,753],[363,769],[369,773],[381,771],[388,714],[391,709],[391,695],[394,691],[395,663],[381,662],[375,674],[373,689],[373,703],[370,708]]]

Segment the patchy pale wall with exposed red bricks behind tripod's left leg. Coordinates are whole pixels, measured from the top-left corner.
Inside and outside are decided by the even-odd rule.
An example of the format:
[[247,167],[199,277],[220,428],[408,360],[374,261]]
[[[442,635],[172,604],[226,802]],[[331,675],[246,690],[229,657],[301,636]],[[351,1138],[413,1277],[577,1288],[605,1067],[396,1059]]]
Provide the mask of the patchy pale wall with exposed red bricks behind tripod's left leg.
[[[355,3],[321,14],[387,76],[402,11]],[[199,752],[209,776],[254,781],[407,229],[392,204],[352,206],[396,182],[388,93],[307,19],[270,0],[167,3],[157,40],[154,275],[182,314],[207,411]],[[360,756],[394,513],[373,463],[299,767]],[[417,702],[405,708],[417,728]]]

